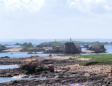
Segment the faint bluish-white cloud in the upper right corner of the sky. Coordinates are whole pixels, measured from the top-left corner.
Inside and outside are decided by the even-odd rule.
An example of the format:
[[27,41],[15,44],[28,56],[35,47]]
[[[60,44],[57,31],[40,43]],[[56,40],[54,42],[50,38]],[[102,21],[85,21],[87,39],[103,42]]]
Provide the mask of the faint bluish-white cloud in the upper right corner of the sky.
[[112,11],[112,0],[67,0],[70,8],[83,13],[105,13]]

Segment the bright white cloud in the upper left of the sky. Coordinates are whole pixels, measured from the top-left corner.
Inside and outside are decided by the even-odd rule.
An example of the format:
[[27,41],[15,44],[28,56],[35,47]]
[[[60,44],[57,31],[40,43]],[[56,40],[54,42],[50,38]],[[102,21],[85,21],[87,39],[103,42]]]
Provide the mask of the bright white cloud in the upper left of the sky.
[[8,10],[27,10],[29,12],[39,11],[45,3],[45,0],[0,0],[1,7]]

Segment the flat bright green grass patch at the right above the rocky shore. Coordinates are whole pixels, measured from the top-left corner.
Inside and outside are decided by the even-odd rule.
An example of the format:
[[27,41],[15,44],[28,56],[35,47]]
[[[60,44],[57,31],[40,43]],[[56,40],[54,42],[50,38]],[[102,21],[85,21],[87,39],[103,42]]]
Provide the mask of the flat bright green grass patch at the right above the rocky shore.
[[90,61],[82,62],[81,65],[87,64],[109,64],[112,65],[112,54],[96,54],[96,55],[60,55],[60,56],[78,56],[79,58],[90,58]]

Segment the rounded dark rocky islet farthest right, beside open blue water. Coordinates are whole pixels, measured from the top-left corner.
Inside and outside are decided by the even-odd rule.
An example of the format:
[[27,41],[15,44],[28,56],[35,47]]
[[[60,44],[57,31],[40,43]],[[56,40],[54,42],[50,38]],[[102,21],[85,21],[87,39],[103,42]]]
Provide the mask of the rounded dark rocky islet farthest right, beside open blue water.
[[88,50],[92,50],[95,53],[104,53],[106,51],[103,44],[94,44]]

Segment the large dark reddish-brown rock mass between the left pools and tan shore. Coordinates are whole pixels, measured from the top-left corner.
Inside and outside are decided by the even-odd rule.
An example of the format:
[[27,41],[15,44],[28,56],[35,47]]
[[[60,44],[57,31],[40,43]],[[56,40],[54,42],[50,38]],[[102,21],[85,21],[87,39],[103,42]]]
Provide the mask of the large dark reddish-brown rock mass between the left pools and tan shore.
[[26,74],[40,74],[42,72],[54,72],[53,65],[46,65],[38,60],[31,62],[23,62],[20,65],[20,69],[26,71]]

